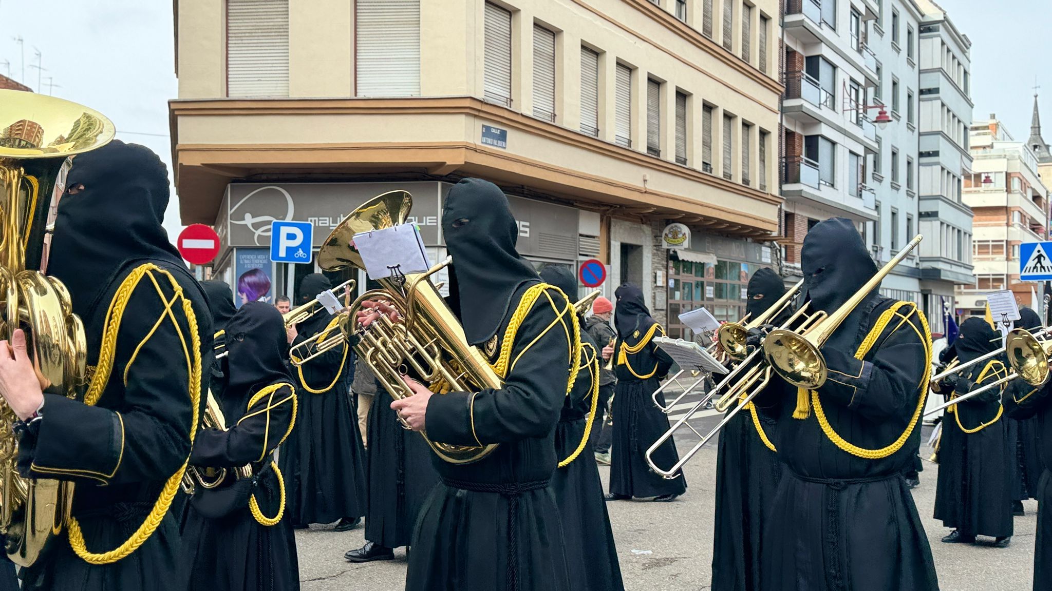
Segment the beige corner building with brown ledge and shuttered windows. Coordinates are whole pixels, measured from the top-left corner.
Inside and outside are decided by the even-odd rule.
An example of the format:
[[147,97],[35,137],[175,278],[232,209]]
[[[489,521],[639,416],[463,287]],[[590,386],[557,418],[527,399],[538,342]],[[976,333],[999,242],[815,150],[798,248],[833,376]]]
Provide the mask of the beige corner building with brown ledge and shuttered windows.
[[[665,315],[677,260],[660,241],[668,222],[743,244],[777,231],[777,11],[774,0],[176,0],[182,219],[221,235],[247,226],[252,243],[227,232],[217,262],[234,283],[236,251],[268,241],[266,218],[322,204],[301,219],[313,218],[318,243],[367,190],[412,182],[429,208],[418,218],[438,226],[434,199],[481,177],[528,202],[515,215],[537,216],[520,229],[533,232],[539,264],[600,258],[609,293],[641,283]],[[540,236],[555,231],[545,220],[569,218]],[[277,293],[302,269],[270,271]]]

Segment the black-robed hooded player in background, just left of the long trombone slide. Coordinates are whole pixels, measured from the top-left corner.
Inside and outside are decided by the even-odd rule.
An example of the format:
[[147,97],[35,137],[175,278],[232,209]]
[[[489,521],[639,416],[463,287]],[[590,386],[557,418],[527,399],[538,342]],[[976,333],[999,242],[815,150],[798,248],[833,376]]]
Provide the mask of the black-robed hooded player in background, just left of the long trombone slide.
[[[664,335],[665,330],[650,318],[639,287],[626,283],[614,295],[618,386],[610,411],[614,416],[610,493],[639,497],[683,494],[687,490],[683,473],[665,480],[650,470],[645,456],[647,449],[669,428],[668,416],[654,406],[651,398],[672,366],[672,358],[651,342],[654,337]],[[664,405],[665,395],[659,394],[659,399]],[[673,439],[658,448],[653,460],[663,467],[680,461]]]

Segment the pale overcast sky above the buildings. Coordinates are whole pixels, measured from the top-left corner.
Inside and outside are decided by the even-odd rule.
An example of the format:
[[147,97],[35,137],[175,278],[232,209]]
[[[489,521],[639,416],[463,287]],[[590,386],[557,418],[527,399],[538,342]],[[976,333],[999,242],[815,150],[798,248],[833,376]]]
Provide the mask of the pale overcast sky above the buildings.
[[[1044,135],[1052,141],[1052,76],[1041,67],[1052,2],[938,2],[972,40],[973,117],[996,113],[1015,139],[1025,141],[1036,75],[1045,86]],[[44,93],[52,78],[53,95],[106,115],[119,139],[149,146],[170,168],[167,100],[177,91],[171,16],[170,0],[0,0],[0,74],[9,72],[38,90],[39,79]],[[43,72],[34,67],[37,49]],[[165,226],[173,240],[182,227],[175,199]]]

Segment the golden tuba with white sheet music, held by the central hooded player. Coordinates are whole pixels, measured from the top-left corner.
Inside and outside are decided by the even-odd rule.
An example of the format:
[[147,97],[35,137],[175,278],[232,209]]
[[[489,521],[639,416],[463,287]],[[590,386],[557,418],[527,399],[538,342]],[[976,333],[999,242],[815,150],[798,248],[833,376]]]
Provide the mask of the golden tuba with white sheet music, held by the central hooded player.
[[[353,246],[355,235],[405,223],[412,207],[412,197],[403,190],[385,192],[363,203],[329,233],[318,253],[318,265],[326,271],[364,269],[361,254]],[[464,329],[445,300],[430,282],[450,259],[424,273],[398,274],[378,281],[380,289],[366,291],[342,312],[338,323],[344,339],[349,339],[353,319],[363,302],[382,300],[401,314],[398,322],[381,315],[359,331],[355,352],[364,360],[377,380],[396,400],[412,395],[402,381],[411,368],[431,389],[437,385],[448,391],[473,392],[500,388],[502,381],[478,348],[469,345]],[[405,426],[403,422],[403,426]],[[478,462],[495,448],[459,446],[434,442],[422,432],[428,445],[442,460],[451,464]]]

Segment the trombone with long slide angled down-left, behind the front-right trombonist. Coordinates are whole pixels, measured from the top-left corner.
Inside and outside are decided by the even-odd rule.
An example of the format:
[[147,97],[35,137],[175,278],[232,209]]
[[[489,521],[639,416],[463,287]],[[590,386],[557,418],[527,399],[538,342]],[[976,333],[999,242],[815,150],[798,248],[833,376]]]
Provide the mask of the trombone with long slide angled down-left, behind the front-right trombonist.
[[[767,310],[765,310],[764,313],[756,317],[756,319],[752,323],[749,323],[749,326],[757,328],[764,325],[765,323],[770,322],[777,315],[780,315],[783,310],[786,310],[791,305],[791,302],[796,297],[796,294],[800,293],[803,287],[804,287],[804,282],[803,281],[797,282],[796,285],[792,287],[792,289],[787,291],[785,295],[783,295],[776,302],[774,302],[774,304],[772,304]],[[797,321],[800,321],[800,324],[797,325],[796,329],[803,330],[807,328],[807,326],[812,322],[812,319],[815,318],[815,314],[811,314],[810,317],[805,315],[807,312],[807,308],[808,304],[804,304],[798,310],[796,310],[791,317],[789,317],[789,319],[786,320],[782,326],[783,327],[793,326],[794,324],[797,323]],[[721,341],[726,340],[730,345],[729,348],[732,350],[735,351],[746,350],[746,344],[744,338],[748,337],[748,329],[739,330],[741,328],[745,328],[740,323],[727,323],[721,325],[720,328],[723,329],[725,326],[728,327],[727,330],[731,332],[727,332],[726,334],[724,334],[723,335],[724,339]],[[743,338],[742,343],[733,342],[731,340],[733,335],[742,337]],[[717,339],[719,338],[720,333],[717,332]],[[770,381],[771,368],[764,363],[763,358],[760,355],[760,353],[761,353],[760,349],[754,349],[751,352],[748,352],[745,355],[745,359],[743,359],[737,364],[737,366],[734,367],[734,369],[732,369],[729,373],[727,373],[727,375],[725,375],[724,379],[721,380],[719,384],[716,384],[711,390],[709,390],[709,392],[705,394],[705,396],[703,396],[702,400],[696,402],[694,406],[687,411],[686,414],[684,414],[679,421],[676,421],[675,425],[673,425],[667,431],[665,431],[665,433],[662,434],[661,437],[658,437],[658,441],[655,441],[647,449],[645,454],[646,461],[647,464],[650,465],[650,469],[653,470],[654,473],[661,475],[663,478],[666,480],[672,480],[677,477],[679,472],[683,468],[683,466],[687,462],[689,462],[690,458],[693,457],[695,453],[697,453],[703,447],[705,447],[705,445],[709,443],[709,441],[711,441],[712,437],[715,436],[715,434],[719,433],[720,430],[723,429],[727,425],[727,423],[729,423],[730,420],[734,417],[735,414],[737,414],[743,408],[747,407],[748,404],[752,402],[752,399],[756,398],[756,395],[760,394],[761,391],[763,391],[768,381]],[[753,361],[756,361],[757,363],[752,363]],[[728,385],[730,387],[715,404],[716,410],[719,410],[720,412],[727,410],[727,408],[730,407],[730,403],[736,399],[741,399],[741,402],[737,404],[737,406],[734,407],[733,410],[728,412],[727,415],[724,416],[724,419],[715,427],[713,427],[711,431],[703,435],[697,431],[697,429],[694,429],[693,425],[691,425],[689,421],[701,409],[705,408],[705,405],[710,400],[712,400],[712,398],[715,396],[717,392],[726,388]],[[693,431],[693,433],[697,435],[697,437],[700,437],[701,441],[694,444],[694,447],[692,447],[689,451],[684,453],[683,456],[680,457],[680,461],[676,462],[671,468],[668,469],[659,468],[653,461],[654,452],[658,451],[658,448],[660,448],[662,444],[668,441],[669,437],[674,435],[675,432],[680,430],[680,428],[682,428],[684,425],[686,425],[688,429]]]

